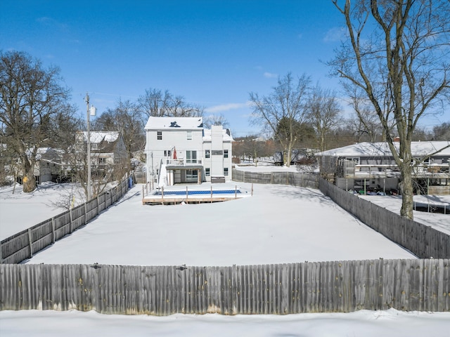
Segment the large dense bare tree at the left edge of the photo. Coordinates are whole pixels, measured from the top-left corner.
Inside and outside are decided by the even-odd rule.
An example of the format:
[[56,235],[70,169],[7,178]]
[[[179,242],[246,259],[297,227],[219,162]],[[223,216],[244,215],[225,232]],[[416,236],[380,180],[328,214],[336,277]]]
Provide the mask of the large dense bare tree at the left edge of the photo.
[[72,120],[75,110],[57,67],[44,69],[39,60],[18,51],[1,52],[0,57],[0,132],[18,157],[23,192],[32,192],[39,147],[58,142],[58,130]]

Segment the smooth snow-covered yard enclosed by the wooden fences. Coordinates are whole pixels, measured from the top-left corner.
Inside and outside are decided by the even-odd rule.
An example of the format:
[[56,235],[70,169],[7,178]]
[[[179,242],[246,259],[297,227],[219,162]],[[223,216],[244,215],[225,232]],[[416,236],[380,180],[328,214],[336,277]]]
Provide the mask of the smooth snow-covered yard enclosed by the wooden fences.
[[[251,184],[238,187],[251,194]],[[257,184],[253,189],[253,197],[226,202],[143,206],[137,185],[27,263],[214,266],[413,258],[319,190]]]

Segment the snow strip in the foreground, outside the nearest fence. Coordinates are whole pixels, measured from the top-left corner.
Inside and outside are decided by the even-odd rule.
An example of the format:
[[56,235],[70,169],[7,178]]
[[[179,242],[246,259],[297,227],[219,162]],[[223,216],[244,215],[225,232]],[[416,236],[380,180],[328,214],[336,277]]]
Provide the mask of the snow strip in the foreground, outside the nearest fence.
[[0,312],[0,335],[33,337],[444,337],[448,312],[397,310],[300,315],[101,315],[76,310]]

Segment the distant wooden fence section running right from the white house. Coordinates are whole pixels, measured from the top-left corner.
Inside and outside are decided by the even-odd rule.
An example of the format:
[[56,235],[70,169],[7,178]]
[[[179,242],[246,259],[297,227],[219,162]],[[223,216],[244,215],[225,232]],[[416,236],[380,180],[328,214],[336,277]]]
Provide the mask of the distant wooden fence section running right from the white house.
[[248,172],[233,169],[233,180],[243,183],[281,184],[319,188],[319,176],[301,172]]

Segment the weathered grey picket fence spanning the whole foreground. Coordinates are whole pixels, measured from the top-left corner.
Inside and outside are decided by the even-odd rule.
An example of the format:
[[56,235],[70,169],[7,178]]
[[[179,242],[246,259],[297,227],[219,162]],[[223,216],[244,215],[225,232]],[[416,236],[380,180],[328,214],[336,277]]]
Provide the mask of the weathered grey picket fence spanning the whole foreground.
[[450,311],[450,260],[233,267],[0,265],[0,310],[222,315]]

